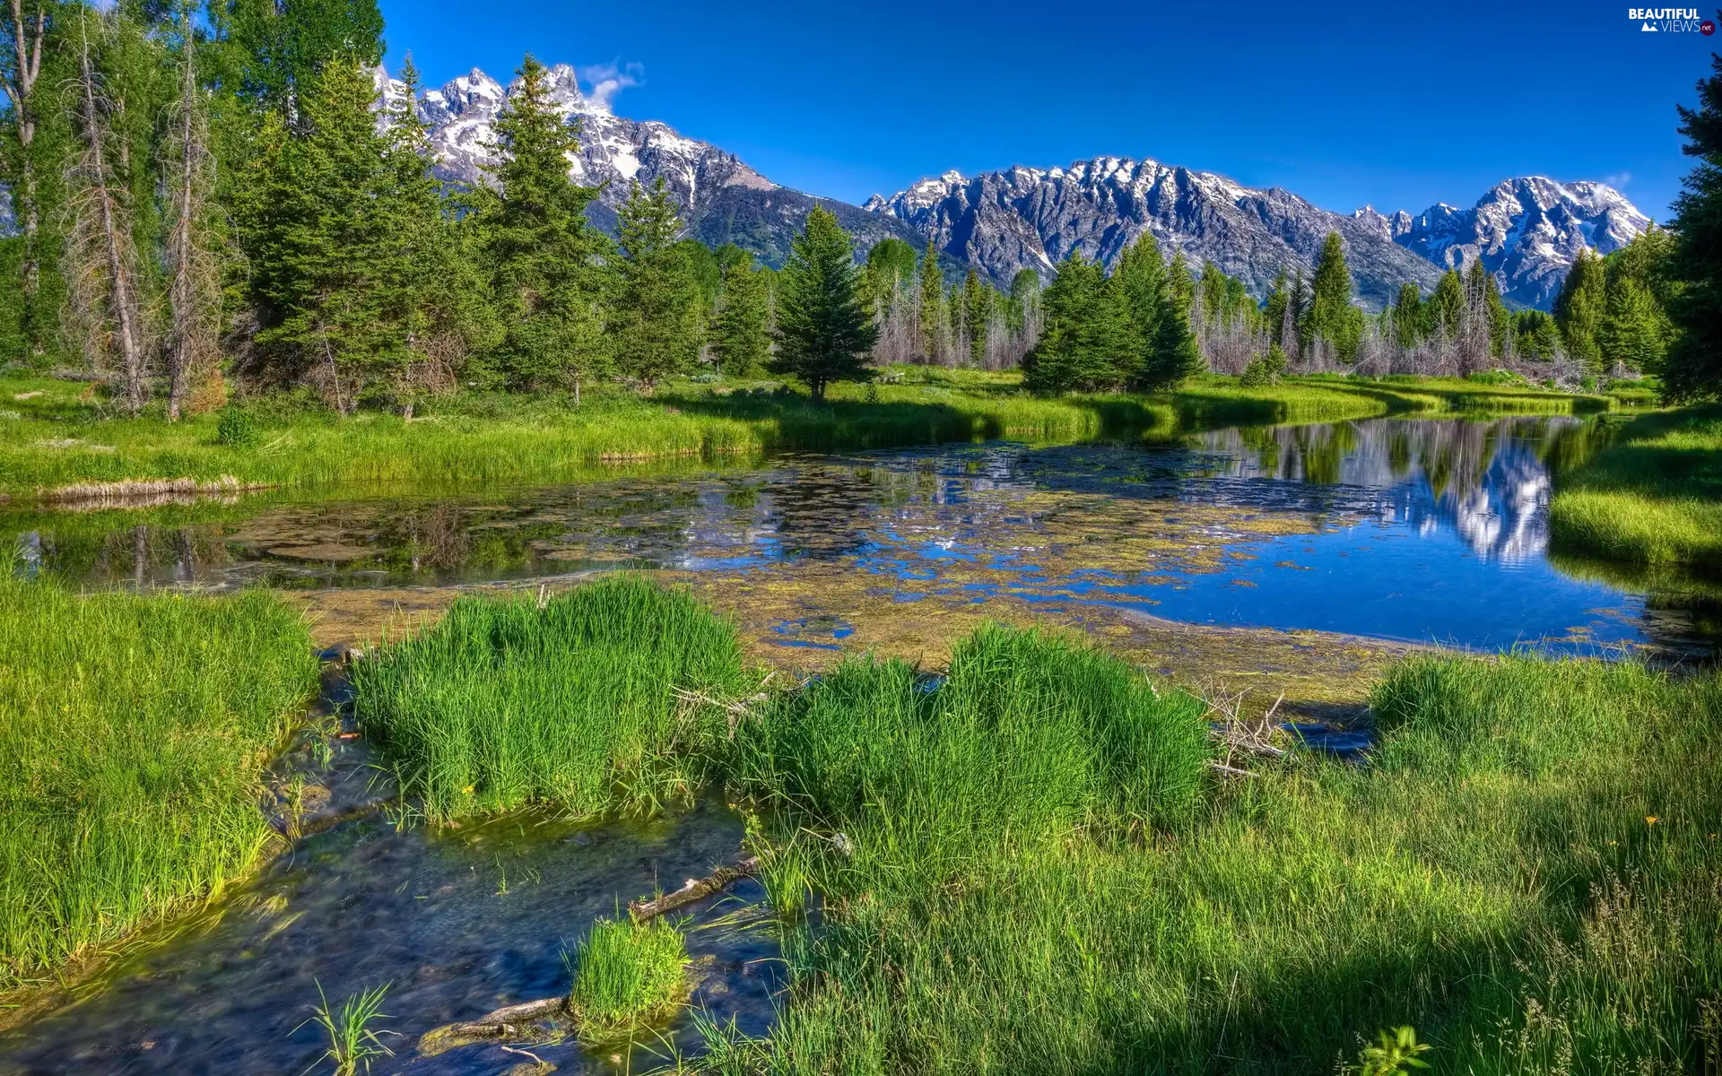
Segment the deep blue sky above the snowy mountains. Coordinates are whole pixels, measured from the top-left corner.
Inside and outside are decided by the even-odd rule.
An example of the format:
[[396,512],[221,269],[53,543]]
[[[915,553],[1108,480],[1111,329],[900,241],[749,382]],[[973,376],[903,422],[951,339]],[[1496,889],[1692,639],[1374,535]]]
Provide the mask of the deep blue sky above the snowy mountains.
[[1607,179],[1663,220],[1688,169],[1674,105],[1722,48],[1722,33],[1643,33],[1629,5],[1595,0],[382,10],[386,62],[412,50],[432,86],[472,67],[508,81],[529,50],[618,65],[639,83],[618,114],[847,201],[945,169],[1119,155],[1341,212],[1471,205],[1508,176]]

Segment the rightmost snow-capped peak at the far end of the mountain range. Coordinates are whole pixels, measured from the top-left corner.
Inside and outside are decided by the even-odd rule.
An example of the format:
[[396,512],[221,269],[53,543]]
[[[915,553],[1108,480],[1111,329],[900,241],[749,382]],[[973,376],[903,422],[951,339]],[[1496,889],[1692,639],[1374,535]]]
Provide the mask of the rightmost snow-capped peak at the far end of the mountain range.
[[1417,217],[1359,210],[1359,219],[1366,215],[1381,234],[1436,265],[1462,269],[1481,257],[1510,303],[1543,310],[1555,301],[1579,250],[1607,255],[1651,224],[1605,182],[1543,176],[1503,179],[1469,210],[1445,203]]

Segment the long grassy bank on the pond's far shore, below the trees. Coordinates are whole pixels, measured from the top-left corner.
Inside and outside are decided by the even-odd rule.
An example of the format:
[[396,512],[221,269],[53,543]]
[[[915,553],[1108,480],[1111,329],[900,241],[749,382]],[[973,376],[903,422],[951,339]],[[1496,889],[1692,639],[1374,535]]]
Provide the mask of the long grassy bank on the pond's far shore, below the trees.
[[224,479],[239,485],[301,487],[558,482],[594,467],[666,456],[746,458],[775,449],[999,437],[1080,441],[1169,430],[1174,422],[1204,427],[1607,406],[1603,398],[1541,389],[1338,377],[1257,389],[1245,389],[1236,379],[1205,377],[1169,394],[1038,398],[1023,394],[1014,374],[907,368],[887,372],[882,384],[837,386],[823,406],[765,386],[692,382],[670,386],[651,399],[587,393],[580,406],[561,396],[456,396],[429,401],[412,424],[384,413],[338,420],[262,403],[250,408],[246,442],[224,444],[214,415],[179,424],[107,418],[83,386],[12,379],[0,380],[0,496],[24,499],[67,487]]

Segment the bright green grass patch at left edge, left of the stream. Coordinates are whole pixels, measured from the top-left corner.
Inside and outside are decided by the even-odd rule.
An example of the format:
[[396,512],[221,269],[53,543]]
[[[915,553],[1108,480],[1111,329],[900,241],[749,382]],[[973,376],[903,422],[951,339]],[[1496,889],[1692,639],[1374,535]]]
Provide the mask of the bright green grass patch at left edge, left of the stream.
[[315,687],[298,613],[76,596],[0,565],[0,988],[246,875],[260,778]]

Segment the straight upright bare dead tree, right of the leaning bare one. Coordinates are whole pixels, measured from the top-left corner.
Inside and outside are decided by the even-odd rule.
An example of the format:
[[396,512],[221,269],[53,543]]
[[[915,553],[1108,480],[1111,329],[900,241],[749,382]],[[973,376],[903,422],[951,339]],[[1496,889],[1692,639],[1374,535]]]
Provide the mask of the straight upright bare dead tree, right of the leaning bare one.
[[186,396],[215,372],[220,332],[220,279],[208,243],[214,157],[208,114],[198,86],[191,7],[181,10],[179,100],[167,153],[169,232],[167,418],[177,422]]

